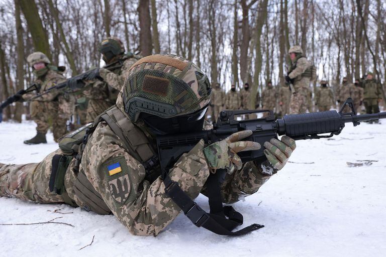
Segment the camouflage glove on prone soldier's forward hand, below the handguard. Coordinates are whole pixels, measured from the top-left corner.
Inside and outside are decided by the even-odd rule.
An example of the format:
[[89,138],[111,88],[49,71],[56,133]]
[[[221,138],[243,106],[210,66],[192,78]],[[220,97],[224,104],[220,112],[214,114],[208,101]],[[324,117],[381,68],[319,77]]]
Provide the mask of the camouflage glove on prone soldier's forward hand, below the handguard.
[[[289,156],[291,156],[296,148],[296,143],[292,138],[282,136],[281,140],[271,139],[269,142],[265,142],[264,147],[264,155],[272,167],[262,168],[273,168],[277,172],[281,170],[288,161]],[[262,166],[264,165],[263,163]]]

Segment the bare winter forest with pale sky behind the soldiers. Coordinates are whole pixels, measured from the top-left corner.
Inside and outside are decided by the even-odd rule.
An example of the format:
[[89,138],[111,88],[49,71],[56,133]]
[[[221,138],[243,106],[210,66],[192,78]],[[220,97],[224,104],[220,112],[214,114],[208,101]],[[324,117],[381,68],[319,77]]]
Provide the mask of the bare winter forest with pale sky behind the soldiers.
[[[98,46],[108,36],[142,56],[190,59],[225,90],[249,82],[256,93],[267,80],[278,90],[290,63],[288,48],[295,44],[334,90],[344,76],[352,80],[372,71],[383,82],[386,73],[381,0],[0,2],[0,101],[31,82],[30,53],[46,53],[71,77],[104,65]],[[316,90],[318,81],[311,86]],[[12,110],[16,120],[21,106]],[[7,109],[5,115],[13,116]]]

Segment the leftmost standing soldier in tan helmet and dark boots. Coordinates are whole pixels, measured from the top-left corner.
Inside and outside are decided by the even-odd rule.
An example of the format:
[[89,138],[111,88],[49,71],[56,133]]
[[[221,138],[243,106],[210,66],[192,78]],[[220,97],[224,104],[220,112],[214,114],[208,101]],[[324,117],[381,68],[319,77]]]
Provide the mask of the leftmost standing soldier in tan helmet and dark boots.
[[[65,81],[62,75],[64,69],[50,65],[51,62],[42,52],[35,52],[27,57],[27,61],[33,69],[36,77],[36,83],[40,84],[40,92],[59,82]],[[35,94],[24,94],[23,99],[29,100]],[[30,140],[24,141],[24,144],[34,145],[47,143],[46,134],[49,129],[49,119],[52,119],[52,132],[55,142],[66,134],[66,122],[73,113],[73,96],[59,90],[51,90],[49,93],[41,95],[30,103],[31,117],[36,122],[37,134]]]

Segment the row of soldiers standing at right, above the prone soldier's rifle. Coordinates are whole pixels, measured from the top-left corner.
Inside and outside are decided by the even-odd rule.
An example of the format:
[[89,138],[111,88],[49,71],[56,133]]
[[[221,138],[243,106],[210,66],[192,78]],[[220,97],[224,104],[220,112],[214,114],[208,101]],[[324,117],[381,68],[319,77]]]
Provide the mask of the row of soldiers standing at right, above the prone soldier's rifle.
[[[286,83],[277,90],[268,80],[266,87],[261,92],[261,99],[259,93],[256,93],[255,108],[260,106],[261,100],[261,108],[275,110],[276,116],[314,111],[313,94],[310,88],[310,83],[315,76],[312,74],[312,65],[303,55],[300,46],[291,47],[288,54],[292,60],[292,65],[285,76]],[[339,108],[347,98],[351,97],[356,112],[360,112],[362,104],[366,113],[379,112],[378,103],[382,99],[381,84],[373,78],[371,72],[368,72],[364,79],[355,79],[354,84],[350,83],[347,77],[344,77],[335,94],[329,87],[328,81],[321,80],[319,84],[314,98],[319,111],[327,111],[332,107]],[[244,88],[240,91],[237,91],[236,86],[232,85],[231,90],[227,93],[221,89],[219,83],[216,83],[212,97],[212,108],[208,111],[208,116],[214,117],[212,120],[216,121],[219,111],[222,109],[250,109],[253,107],[249,105],[250,97],[251,90],[248,83],[245,83]],[[343,112],[351,112],[348,105],[345,106]]]

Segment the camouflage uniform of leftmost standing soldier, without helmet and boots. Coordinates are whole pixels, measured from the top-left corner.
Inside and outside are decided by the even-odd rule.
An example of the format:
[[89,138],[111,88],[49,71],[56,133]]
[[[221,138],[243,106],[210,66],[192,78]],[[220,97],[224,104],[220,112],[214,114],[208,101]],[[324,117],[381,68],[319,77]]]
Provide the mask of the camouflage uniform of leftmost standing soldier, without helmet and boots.
[[[64,76],[56,71],[48,70],[46,75],[36,80],[41,85],[40,92],[44,92],[48,88],[63,82]],[[29,93],[23,95],[23,99],[29,100],[35,94]],[[49,129],[49,120],[52,119],[52,131],[54,140],[57,142],[64,134],[66,134],[66,121],[74,112],[75,97],[59,90],[51,90],[49,93],[41,97],[33,99],[30,103],[30,112],[32,119],[36,122],[36,130],[46,134]]]

